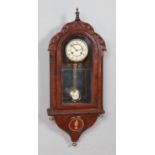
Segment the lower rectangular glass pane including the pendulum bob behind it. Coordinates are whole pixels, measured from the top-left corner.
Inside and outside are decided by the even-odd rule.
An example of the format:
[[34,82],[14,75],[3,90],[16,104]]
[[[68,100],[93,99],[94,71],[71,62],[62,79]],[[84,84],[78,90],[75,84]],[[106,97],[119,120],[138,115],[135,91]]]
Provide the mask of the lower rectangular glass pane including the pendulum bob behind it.
[[62,100],[64,104],[90,102],[90,87],[90,69],[77,68],[76,75],[72,68],[62,69]]

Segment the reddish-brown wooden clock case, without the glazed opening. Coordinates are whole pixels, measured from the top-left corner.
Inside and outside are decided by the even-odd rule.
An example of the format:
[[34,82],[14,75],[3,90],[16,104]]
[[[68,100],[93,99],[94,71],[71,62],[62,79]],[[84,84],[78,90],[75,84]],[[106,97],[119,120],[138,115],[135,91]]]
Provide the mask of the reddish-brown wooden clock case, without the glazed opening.
[[[66,40],[73,36],[83,36],[91,41],[91,103],[62,103],[62,47]],[[53,116],[56,124],[67,132],[72,142],[77,142],[80,135],[91,127],[98,116],[103,114],[103,56],[106,45],[93,27],[80,20],[76,11],[76,19],[63,26],[49,44],[50,54],[50,108],[48,116]]]

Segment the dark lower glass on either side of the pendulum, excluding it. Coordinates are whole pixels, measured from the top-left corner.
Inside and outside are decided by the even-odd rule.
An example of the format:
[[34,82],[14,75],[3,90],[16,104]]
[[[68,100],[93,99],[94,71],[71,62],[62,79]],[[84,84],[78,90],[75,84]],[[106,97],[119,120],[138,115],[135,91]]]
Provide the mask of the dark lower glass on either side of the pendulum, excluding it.
[[[63,69],[62,70],[62,101],[63,103],[71,103],[72,98],[70,96],[70,91],[73,88],[73,70]],[[77,81],[76,88],[80,92],[80,99],[76,101],[89,103],[91,101],[91,84],[90,84],[90,69],[78,68],[77,69]]]

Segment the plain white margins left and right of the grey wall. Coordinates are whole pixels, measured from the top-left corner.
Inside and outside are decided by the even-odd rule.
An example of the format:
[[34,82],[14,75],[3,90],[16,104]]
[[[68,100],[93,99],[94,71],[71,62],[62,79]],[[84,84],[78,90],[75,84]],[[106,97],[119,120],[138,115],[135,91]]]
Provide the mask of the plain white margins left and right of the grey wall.
[[[153,0],[117,0],[118,155],[155,154],[154,14]],[[0,4],[0,154],[3,155],[38,154],[37,18],[37,1]]]

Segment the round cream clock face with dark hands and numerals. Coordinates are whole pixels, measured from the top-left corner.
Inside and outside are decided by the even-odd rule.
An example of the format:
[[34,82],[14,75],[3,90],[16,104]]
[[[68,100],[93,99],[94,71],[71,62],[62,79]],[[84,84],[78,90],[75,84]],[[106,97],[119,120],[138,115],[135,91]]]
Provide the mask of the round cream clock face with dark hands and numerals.
[[66,56],[73,62],[83,61],[88,55],[88,45],[82,39],[72,39],[65,48]]

